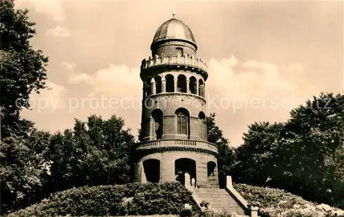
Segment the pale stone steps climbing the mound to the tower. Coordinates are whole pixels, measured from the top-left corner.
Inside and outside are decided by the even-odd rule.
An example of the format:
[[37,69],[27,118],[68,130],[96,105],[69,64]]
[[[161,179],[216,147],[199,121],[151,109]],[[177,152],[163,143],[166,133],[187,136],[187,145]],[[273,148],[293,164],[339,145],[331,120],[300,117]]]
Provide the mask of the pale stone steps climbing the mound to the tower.
[[203,201],[208,201],[210,203],[210,209],[214,211],[246,216],[245,209],[225,189],[196,188],[195,192]]

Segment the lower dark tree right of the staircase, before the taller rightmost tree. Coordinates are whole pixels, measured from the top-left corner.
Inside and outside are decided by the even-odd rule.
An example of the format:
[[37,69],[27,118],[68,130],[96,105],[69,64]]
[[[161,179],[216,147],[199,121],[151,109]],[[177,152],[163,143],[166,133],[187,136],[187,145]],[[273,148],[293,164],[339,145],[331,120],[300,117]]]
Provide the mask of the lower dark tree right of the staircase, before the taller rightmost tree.
[[244,144],[237,148],[234,180],[241,183],[265,185],[277,181],[279,169],[275,150],[281,144],[284,124],[255,122],[244,133]]

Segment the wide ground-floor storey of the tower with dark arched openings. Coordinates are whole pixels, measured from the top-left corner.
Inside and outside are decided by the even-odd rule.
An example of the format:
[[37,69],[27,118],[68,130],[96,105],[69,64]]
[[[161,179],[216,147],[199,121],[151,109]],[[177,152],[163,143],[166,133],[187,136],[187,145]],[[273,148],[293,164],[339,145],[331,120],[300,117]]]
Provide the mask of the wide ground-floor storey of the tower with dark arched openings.
[[218,187],[217,159],[202,152],[171,151],[145,155],[135,166],[136,181],[141,183],[176,181],[188,172],[197,183]]

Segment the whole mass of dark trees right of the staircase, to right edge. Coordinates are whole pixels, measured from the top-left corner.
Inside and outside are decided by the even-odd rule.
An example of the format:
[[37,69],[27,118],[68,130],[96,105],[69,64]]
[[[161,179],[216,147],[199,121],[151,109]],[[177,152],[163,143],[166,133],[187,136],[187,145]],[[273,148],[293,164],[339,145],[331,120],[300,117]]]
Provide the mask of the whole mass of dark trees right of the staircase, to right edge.
[[235,180],[344,207],[344,95],[321,93],[286,123],[255,123],[237,150]]

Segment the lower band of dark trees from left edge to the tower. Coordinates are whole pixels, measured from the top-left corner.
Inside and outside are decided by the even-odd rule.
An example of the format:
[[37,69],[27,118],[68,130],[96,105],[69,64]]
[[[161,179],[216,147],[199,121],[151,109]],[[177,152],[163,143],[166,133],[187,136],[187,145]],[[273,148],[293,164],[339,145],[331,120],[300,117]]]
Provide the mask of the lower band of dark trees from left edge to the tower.
[[2,209],[20,209],[72,187],[128,183],[133,139],[116,115],[76,119],[73,130],[54,135],[32,130],[26,138],[3,139]]

